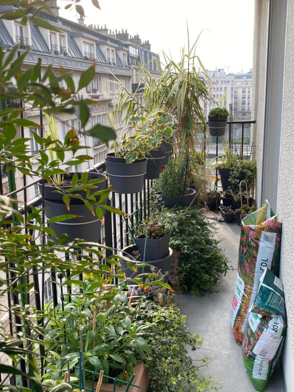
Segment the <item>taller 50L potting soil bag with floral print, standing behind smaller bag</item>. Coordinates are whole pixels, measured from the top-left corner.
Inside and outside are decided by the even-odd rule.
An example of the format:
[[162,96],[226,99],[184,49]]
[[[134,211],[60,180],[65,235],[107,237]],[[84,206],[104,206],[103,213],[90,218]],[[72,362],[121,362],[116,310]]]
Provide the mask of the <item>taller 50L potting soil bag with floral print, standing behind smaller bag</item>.
[[278,276],[282,224],[266,202],[242,220],[238,271],[231,307],[231,326],[241,345],[248,309],[251,307],[264,268]]

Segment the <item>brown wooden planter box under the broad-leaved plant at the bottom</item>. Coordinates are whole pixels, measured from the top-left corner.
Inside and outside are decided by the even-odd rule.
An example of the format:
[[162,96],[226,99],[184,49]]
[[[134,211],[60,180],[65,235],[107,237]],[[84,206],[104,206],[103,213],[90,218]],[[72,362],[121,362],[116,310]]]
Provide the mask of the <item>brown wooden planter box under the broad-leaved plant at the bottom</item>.
[[[141,361],[134,367],[135,377],[132,384],[140,385],[141,388],[130,387],[129,392],[147,392],[149,387],[149,370],[145,367],[144,362]],[[97,383],[94,383],[94,391],[96,391]],[[116,387],[116,392],[125,392],[127,385]],[[113,392],[113,384],[102,383],[100,392]]]

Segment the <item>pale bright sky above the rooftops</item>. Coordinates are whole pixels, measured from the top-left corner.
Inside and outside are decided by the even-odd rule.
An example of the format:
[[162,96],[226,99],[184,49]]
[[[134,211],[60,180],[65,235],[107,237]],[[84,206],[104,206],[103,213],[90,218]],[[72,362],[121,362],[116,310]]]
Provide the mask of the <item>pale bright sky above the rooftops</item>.
[[[75,10],[64,10],[71,0],[58,0],[59,14],[77,21]],[[99,0],[101,10],[91,0],[79,2],[85,10],[85,24],[125,30],[149,40],[155,53],[170,53],[180,59],[201,33],[196,54],[209,70],[226,72],[252,68],[254,0]],[[162,56],[161,56],[162,57]]]

